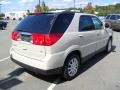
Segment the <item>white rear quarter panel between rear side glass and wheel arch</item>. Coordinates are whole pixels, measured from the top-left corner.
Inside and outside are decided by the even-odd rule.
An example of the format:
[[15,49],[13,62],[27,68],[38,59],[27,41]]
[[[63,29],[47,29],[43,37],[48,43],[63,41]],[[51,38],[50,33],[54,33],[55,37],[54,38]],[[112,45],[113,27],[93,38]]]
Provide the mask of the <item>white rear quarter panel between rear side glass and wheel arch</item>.
[[[65,59],[70,52],[81,49],[80,46],[82,46],[83,41],[78,41],[78,36],[76,36],[78,33],[79,16],[79,14],[75,14],[71,24],[59,41],[52,46],[45,47],[46,54],[63,52],[63,58]],[[80,43],[81,45],[79,45]]]

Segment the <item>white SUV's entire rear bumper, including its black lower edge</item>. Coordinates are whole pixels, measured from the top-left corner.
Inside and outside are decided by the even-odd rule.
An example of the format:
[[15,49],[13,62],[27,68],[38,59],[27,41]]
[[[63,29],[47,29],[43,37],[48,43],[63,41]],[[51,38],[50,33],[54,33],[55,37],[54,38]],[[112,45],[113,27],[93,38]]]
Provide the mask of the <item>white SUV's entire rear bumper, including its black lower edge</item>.
[[16,64],[44,75],[60,74],[64,64],[63,53],[47,55],[45,58],[37,60],[24,56],[20,52],[15,52],[15,50],[11,48],[10,56]]

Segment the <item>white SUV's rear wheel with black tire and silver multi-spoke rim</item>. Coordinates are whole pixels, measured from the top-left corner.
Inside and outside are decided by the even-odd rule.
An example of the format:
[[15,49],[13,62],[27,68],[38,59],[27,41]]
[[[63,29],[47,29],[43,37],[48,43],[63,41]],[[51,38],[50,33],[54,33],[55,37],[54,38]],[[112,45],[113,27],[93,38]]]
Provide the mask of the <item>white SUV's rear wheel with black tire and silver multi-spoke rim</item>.
[[70,54],[63,67],[63,78],[72,80],[78,75],[80,69],[80,57],[77,54]]

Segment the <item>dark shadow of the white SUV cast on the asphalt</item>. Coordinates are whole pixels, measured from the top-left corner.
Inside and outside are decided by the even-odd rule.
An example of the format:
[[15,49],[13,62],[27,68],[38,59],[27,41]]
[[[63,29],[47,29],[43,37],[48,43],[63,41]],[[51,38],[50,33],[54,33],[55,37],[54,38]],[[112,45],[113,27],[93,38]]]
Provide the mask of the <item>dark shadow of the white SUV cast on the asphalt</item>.
[[[115,53],[115,48],[116,46],[112,47],[112,52]],[[92,66],[94,66],[96,63],[98,63],[99,61],[103,60],[103,58],[105,58],[107,55],[106,53],[100,53],[96,56],[94,56],[93,58],[89,59],[87,62],[85,62],[82,66],[81,69],[79,71],[79,75],[81,75],[82,73],[84,73],[85,71],[89,70]],[[43,80],[45,82],[49,82],[49,83],[54,83],[54,84],[61,84],[66,82],[66,80],[64,80],[61,75],[51,75],[51,76],[45,76],[45,75],[41,75],[41,74],[37,74],[31,71],[28,71],[24,68],[17,68],[16,70],[14,70],[13,72],[9,73],[7,78],[0,80],[0,89],[2,90],[7,90],[10,89],[18,84],[23,83],[23,81],[17,79],[17,77],[19,77],[21,74],[23,74],[24,72],[27,72],[28,74],[32,75],[33,77],[36,77],[40,80]],[[56,79],[59,78],[58,82],[55,82]]]

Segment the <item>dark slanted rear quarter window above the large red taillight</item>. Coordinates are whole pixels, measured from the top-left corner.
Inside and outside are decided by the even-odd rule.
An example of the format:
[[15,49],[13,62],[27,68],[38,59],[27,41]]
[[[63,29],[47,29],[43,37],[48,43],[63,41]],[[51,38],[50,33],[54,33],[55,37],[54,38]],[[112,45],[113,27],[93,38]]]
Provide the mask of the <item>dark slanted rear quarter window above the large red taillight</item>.
[[62,13],[56,18],[51,33],[64,33],[69,27],[74,13]]

